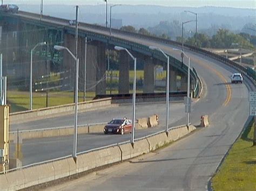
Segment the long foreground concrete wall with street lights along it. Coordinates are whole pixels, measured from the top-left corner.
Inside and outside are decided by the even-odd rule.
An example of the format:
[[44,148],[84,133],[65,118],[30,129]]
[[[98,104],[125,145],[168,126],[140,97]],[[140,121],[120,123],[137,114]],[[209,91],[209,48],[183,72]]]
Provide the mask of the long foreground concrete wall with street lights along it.
[[138,140],[134,146],[130,143],[103,148],[89,153],[79,154],[77,162],[71,157],[47,162],[42,165],[22,168],[18,171],[0,175],[1,190],[16,190],[28,188],[40,183],[58,180],[77,173],[85,172],[93,168],[113,164],[139,155],[149,153],[157,148],[171,143],[174,139],[184,137],[195,130],[194,126],[181,126],[166,133]]

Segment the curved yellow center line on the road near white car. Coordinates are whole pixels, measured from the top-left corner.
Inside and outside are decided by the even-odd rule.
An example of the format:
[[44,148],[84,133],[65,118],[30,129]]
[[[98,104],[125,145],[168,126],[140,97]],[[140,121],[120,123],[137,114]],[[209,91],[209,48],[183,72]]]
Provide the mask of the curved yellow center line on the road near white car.
[[224,75],[221,74],[218,70],[212,68],[211,66],[208,66],[206,65],[204,62],[198,60],[198,59],[194,59],[192,58],[191,60],[193,60],[194,62],[197,62],[199,63],[199,65],[203,66],[203,67],[206,67],[210,70],[212,70],[215,74],[217,74],[220,79],[225,83],[225,87],[227,89],[227,97],[226,97],[226,100],[224,101],[223,103],[223,106],[226,106],[230,101],[231,101],[231,96],[232,96],[232,89],[231,89],[231,86],[230,84],[228,84],[227,80],[225,79]]

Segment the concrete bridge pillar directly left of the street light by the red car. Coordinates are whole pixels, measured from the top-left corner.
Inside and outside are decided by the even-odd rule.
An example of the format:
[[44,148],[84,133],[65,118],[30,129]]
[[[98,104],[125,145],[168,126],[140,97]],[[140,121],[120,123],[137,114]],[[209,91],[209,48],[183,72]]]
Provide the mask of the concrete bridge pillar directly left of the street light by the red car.
[[121,51],[119,55],[120,55],[119,56],[120,65],[119,65],[118,94],[129,94],[130,56],[125,51]]

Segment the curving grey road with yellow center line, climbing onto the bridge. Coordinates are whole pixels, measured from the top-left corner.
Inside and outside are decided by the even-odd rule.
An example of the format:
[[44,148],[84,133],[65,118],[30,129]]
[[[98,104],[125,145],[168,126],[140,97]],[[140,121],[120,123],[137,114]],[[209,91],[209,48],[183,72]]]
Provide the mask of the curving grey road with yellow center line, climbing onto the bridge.
[[[55,23],[61,24],[57,21]],[[95,29],[87,30],[107,34]],[[161,47],[176,58],[180,55],[171,45],[123,34],[114,36]],[[244,128],[249,110],[248,89],[255,87],[248,81],[248,87],[245,84],[231,84],[229,76],[234,69],[203,55],[190,51],[186,53],[191,56],[191,64],[197,69],[205,85],[203,97],[193,106],[191,122],[197,123],[204,114],[209,116],[211,125],[156,153],[64,183],[62,186],[54,187],[55,190],[206,189],[208,180]],[[184,121],[185,117],[181,117],[173,124]],[[102,135],[96,135],[91,143],[98,143],[100,136]]]

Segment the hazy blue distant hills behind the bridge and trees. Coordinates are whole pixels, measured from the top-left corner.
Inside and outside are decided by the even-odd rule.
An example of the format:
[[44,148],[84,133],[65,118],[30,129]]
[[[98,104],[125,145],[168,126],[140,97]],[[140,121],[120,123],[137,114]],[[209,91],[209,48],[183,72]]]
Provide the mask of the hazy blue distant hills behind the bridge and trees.
[[[19,8],[29,12],[40,12],[40,5],[19,5]],[[57,11],[56,11],[57,10]],[[206,31],[212,26],[227,27],[233,31],[240,31],[246,23],[254,23],[256,20],[255,9],[238,9],[204,6],[200,8],[190,7],[166,7],[153,5],[122,5],[113,8],[112,18],[123,20],[123,25],[139,27],[153,27],[161,21],[181,23],[184,20],[195,19],[191,13],[198,13],[198,29]],[[45,5],[44,15],[75,18],[75,8],[71,5]],[[108,16],[109,17],[109,16]],[[86,23],[105,23],[105,5],[82,5],[79,11],[79,20]],[[194,23],[186,25],[187,30],[194,30]]]

